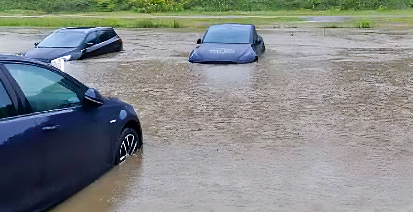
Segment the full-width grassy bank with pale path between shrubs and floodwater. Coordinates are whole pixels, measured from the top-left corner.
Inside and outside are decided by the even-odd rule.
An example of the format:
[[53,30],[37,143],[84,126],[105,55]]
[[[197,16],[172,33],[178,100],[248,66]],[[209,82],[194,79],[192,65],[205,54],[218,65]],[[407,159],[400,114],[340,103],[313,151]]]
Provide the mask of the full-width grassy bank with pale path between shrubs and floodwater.
[[[306,16],[340,15],[343,21],[310,22]],[[211,24],[241,23],[266,27],[377,27],[391,24],[413,26],[413,10],[399,11],[311,11],[283,10],[262,12],[99,12],[78,15],[0,16],[0,26],[111,26],[111,27],[199,27]]]

